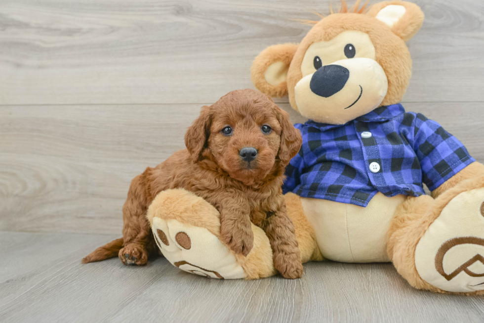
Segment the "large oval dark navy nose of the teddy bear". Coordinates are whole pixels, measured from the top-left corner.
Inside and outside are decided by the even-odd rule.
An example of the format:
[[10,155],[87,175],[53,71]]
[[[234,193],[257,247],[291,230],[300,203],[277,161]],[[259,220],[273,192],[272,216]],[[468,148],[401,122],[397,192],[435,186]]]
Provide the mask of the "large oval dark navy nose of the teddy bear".
[[325,65],[320,67],[311,78],[309,88],[314,94],[330,97],[345,87],[350,71],[341,65]]

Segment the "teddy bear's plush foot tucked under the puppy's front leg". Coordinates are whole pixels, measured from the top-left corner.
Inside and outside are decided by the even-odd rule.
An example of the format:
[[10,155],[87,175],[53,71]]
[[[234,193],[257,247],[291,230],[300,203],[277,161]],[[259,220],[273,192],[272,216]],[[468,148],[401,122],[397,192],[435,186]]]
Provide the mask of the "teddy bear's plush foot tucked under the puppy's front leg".
[[235,254],[220,237],[220,215],[203,198],[183,189],[157,195],[148,209],[155,241],[179,269],[218,279],[256,279],[274,275],[272,249],[262,229],[252,224],[253,248]]

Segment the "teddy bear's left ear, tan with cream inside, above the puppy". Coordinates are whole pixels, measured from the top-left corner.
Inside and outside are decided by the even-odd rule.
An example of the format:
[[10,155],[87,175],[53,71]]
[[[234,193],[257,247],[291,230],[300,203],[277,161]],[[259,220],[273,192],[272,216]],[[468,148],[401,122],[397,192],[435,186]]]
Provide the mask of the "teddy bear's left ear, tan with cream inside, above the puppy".
[[298,44],[269,46],[255,57],[250,74],[252,83],[262,93],[281,97],[287,94],[287,70]]

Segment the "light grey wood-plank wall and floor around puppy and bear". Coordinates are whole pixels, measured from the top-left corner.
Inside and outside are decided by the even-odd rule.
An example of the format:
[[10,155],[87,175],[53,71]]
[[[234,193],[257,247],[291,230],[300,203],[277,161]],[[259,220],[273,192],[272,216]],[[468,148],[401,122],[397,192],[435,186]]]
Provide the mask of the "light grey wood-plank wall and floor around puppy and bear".
[[[184,148],[202,105],[253,88],[253,58],[300,41],[310,27],[291,19],[329,2],[0,0],[0,322],[483,322],[483,297],[414,290],[391,264],[247,282],[163,258],[80,263],[121,236],[130,180]],[[403,105],[484,162],[484,1],[415,2]]]

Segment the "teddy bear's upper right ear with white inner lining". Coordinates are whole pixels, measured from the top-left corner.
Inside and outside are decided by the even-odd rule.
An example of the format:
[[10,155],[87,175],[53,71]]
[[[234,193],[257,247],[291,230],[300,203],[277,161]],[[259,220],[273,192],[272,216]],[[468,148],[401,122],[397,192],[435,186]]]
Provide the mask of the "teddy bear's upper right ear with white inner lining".
[[367,14],[385,23],[405,42],[418,32],[424,20],[418,5],[398,0],[375,3]]

